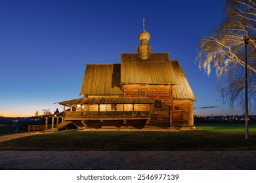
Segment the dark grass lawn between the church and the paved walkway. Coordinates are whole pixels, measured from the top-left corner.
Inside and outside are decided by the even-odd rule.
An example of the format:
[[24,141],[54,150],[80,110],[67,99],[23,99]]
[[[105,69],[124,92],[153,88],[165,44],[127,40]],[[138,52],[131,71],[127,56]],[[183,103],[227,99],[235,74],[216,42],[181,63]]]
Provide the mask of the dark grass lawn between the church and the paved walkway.
[[256,125],[249,140],[241,125],[197,125],[196,131],[79,132],[39,134],[0,142],[0,150],[256,150]]

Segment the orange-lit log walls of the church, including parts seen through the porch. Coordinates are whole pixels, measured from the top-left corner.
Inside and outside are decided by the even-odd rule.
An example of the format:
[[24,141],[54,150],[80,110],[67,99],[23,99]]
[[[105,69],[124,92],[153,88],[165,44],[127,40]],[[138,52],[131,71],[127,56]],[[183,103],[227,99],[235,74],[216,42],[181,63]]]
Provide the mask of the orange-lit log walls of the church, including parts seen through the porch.
[[[141,96],[140,90],[145,90],[146,95]],[[144,104],[117,104],[116,112],[120,111],[148,111],[151,110],[150,120],[130,120],[130,119],[115,119],[104,121],[99,120],[87,120],[85,124],[87,127],[95,128],[142,128],[142,127],[192,127],[194,126],[193,118],[193,101],[192,100],[174,100],[173,98],[173,86],[172,85],[146,85],[146,84],[126,84],[123,85],[123,97],[150,97],[153,101],[160,100],[162,103],[161,108],[155,108],[154,103],[152,105]],[[149,108],[150,107],[150,108]],[[81,110],[81,109],[80,109]],[[115,108],[112,105],[100,105],[100,111],[114,111]],[[83,111],[98,111],[98,105],[83,105]],[[119,116],[120,117],[120,116]],[[118,117],[118,118],[119,118]]]

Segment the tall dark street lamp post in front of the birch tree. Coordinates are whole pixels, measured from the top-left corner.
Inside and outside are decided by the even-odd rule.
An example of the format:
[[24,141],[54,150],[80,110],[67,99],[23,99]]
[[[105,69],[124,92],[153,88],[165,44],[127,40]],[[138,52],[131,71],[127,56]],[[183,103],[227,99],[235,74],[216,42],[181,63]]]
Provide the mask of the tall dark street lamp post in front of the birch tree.
[[248,86],[247,86],[247,44],[249,43],[249,37],[244,37],[245,45],[245,139],[249,139],[248,130]]

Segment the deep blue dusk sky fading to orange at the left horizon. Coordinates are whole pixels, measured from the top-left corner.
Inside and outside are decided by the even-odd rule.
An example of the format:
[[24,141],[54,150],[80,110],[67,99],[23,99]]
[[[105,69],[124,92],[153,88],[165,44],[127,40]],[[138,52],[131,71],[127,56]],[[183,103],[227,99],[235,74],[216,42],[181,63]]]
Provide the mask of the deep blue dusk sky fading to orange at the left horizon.
[[195,63],[196,46],[221,23],[223,7],[222,0],[2,0],[0,116],[62,110],[54,103],[82,97],[83,64],[119,63],[120,52],[136,52],[142,18],[152,52],[180,61],[197,98],[194,114],[242,114],[218,101],[215,73]]

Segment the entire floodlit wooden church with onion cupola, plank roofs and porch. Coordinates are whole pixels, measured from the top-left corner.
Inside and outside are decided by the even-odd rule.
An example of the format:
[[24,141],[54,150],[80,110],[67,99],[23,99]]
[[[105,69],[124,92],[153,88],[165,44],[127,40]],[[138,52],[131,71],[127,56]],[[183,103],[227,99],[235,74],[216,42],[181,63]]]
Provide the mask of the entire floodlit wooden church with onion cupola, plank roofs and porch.
[[82,98],[62,101],[62,124],[78,129],[194,129],[194,93],[177,60],[150,53],[150,33],[119,64],[86,64]]

